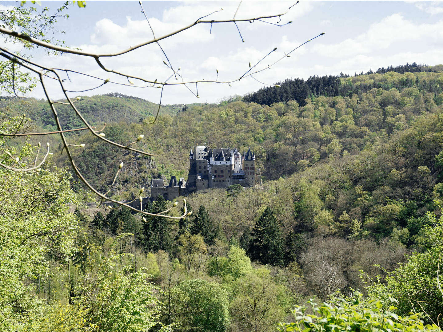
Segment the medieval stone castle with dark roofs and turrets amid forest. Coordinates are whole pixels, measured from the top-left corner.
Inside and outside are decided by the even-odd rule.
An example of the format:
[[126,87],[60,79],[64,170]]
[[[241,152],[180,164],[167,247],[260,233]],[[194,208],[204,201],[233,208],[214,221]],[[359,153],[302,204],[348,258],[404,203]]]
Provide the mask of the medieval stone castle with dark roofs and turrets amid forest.
[[211,149],[195,147],[189,153],[188,181],[171,177],[165,186],[163,179],[152,179],[151,197],[163,196],[168,201],[195,190],[226,188],[239,184],[242,187],[261,185],[260,170],[255,168],[255,154],[248,149],[240,154],[236,149]]

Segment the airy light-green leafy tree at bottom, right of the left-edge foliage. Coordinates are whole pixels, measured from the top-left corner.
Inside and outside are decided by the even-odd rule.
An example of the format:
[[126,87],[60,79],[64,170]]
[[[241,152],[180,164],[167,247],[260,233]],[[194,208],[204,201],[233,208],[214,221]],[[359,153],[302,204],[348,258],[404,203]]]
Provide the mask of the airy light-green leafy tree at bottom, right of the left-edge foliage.
[[[90,273],[84,274],[76,286],[81,295],[75,303],[84,308],[86,322],[94,331],[136,332],[147,328],[172,331],[171,326],[158,321],[162,304],[154,295],[158,289],[147,282],[148,270],[134,271],[133,266],[122,264],[128,254],[120,254],[118,249],[126,236],[123,233],[113,240],[109,255],[91,253]],[[117,254],[112,254],[114,250]]]

